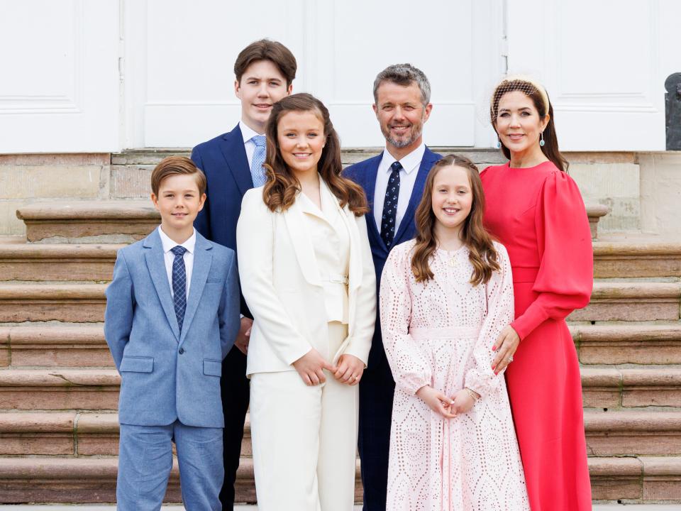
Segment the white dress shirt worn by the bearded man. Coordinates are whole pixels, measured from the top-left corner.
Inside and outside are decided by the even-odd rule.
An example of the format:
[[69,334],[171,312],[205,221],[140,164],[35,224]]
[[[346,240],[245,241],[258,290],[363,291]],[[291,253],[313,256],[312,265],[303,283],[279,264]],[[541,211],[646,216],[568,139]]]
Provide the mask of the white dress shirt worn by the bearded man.
[[[423,153],[426,152],[426,144],[421,143],[418,148],[414,149],[406,155],[399,163],[402,164],[402,170],[399,171],[399,196],[397,197],[397,214],[395,218],[395,233],[399,229],[399,223],[402,221],[406,207],[409,206],[409,199],[411,199],[411,192],[414,189],[416,182],[416,175],[419,174],[419,166],[423,159]],[[378,165],[378,173],[376,175],[376,187],[374,189],[374,219],[378,231],[381,231],[381,224],[383,220],[383,202],[385,200],[385,190],[388,187],[388,180],[392,172],[392,165],[396,162],[395,158],[388,152],[387,148],[383,150],[383,158]],[[420,199],[420,197],[419,197]]]

